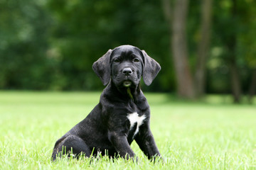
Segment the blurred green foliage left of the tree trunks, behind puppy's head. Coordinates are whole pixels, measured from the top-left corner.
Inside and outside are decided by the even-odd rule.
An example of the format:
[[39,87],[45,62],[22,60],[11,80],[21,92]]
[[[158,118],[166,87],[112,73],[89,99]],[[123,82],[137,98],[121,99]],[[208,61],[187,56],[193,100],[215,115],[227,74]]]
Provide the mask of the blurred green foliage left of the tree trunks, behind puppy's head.
[[[1,1],[1,89],[102,89],[92,63],[122,44],[141,47],[159,62],[170,60],[162,50],[169,36],[156,1],[15,2]],[[146,89],[168,90],[156,87],[169,84],[169,72],[163,69]]]

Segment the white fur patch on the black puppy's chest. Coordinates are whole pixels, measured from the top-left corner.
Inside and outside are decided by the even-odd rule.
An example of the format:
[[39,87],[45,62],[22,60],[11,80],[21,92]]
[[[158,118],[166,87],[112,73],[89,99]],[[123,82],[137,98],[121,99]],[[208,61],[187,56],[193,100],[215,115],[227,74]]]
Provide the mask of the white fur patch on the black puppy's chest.
[[144,123],[146,119],[146,115],[139,116],[137,112],[134,112],[134,113],[128,113],[127,118],[130,124],[129,131],[132,133],[134,132],[133,134],[133,137],[134,137],[139,132],[139,127]]

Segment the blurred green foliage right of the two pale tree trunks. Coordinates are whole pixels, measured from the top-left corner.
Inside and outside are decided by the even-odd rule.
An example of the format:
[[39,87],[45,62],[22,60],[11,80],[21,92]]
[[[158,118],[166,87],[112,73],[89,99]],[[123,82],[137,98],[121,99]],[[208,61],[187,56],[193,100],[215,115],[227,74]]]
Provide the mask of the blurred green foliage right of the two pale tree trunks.
[[[208,91],[230,92],[230,55],[235,55],[242,90],[247,93],[255,68],[255,1],[214,1],[212,48],[208,61]],[[252,40],[253,39],[253,40]],[[235,42],[236,41],[236,42]],[[229,46],[235,45],[235,52]],[[253,46],[253,47],[252,47]]]

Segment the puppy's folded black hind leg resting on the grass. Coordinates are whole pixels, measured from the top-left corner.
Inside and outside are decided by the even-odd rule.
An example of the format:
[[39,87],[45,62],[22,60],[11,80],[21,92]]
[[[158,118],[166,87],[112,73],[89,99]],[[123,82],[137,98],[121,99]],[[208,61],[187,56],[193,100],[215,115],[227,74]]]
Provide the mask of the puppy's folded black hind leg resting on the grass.
[[61,157],[62,154],[68,154],[68,157],[70,157],[71,151],[76,158],[80,154],[85,154],[86,157],[90,157],[91,154],[90,148],[87,147],[84,140],[75,135],[68,135],[67,137],[61,137],[55,143],[52,160],[54,161],[58,156]]

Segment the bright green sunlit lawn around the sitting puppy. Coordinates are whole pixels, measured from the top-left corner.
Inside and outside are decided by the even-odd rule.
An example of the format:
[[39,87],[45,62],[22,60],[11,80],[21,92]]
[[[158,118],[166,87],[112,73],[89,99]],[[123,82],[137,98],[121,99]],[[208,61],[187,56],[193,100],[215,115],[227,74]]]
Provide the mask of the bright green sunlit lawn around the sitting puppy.
[[55,141],[97,104],[98,92],[0,91],[0,169],[256,169],[256,106],[223,96],[205,102],[146,94],[151,130],[165,163],[61,159],[50,162]]

